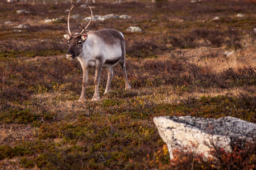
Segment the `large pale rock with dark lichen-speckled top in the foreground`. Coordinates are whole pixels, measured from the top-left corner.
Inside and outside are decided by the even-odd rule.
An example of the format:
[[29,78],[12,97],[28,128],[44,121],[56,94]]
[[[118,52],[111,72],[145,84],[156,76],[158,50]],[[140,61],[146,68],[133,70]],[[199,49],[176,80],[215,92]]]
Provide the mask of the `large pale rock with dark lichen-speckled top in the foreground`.
[[242,146],[256,137],[256,124],[234,117],[155,117],[154,123],[160,137],[167,143],[170,159],[173,158],[173,150],[184,148],[203,154],[204,158],[212,157],[212,144],[230,152],[237,141]]

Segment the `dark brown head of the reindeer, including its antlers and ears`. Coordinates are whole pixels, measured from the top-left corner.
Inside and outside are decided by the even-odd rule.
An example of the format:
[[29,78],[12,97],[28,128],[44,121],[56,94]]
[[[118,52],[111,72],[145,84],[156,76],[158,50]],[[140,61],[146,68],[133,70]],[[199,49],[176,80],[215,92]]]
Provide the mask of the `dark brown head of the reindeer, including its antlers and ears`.
[[88,5],[88,7],[90,8],[91,14],[88,14],[87,12],[85,12],[85,13],[90,16],[90,22],[86,25],[86,27],[84,27],[84,25],[82,25],[82,23],[80,23],[82,26],[82,31],[80,33],[72,34],[70,31],[70,27],[69,27],[69,16],[70,16],[70,12],[73,7],[74,7],[74,5],[72,5],[70,7],[69,14],[68,14],[68,31],[66,31],[64,29],[65,24],[63,24],[64,31],[68,33],[68,34],[65,34],[64,37],[65,37],[65,39],[68,40],[68,52],[66,54],[66,58],[69,60],[72,60],[81,54],[82,44],[85,42],[85,40],[88,37],[88,35],[86,33],[83,34],[82,32],[85,31],[85,29],[89,26],[90,22],[92,21],[92,8],[90,8],[90,6]]

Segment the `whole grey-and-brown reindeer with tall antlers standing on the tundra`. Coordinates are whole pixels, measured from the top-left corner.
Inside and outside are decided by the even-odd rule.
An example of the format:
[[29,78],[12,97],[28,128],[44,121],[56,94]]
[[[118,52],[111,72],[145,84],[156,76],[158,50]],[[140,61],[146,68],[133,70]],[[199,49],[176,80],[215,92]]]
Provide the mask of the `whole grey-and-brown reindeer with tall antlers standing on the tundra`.
[[94,67],[95,73],[95,91],[92,100],[100,100],[98,95],[98,84],[100,83],[101,70],[106,69],[108,71],[108,82],[104,94],[109,92],[110,83],[113,77],[113,66],[121,65],[123,76],[125,78],[125,89],[130,89],[128,83],[126,67],[125,67],[125,39],[121,32],[115,29],[100,29],[98,31],[89,31],[83,33],[85,29],[92,22],[92,8],[90,8],[91,14],[90,21],[86,27],[82,26],[80,33],[71,33],[69,27],[69,16],[72,8],[71,6],[68,14],[68,31],[65,30],[64,24],[63,29],[68,34],[64,35],[65,39],[68,40],[68,52],[66,58],[69,60],[77,58],[82,67],[82,94],[80,101],[85,99],[85,88],[88,83],[88,69]]

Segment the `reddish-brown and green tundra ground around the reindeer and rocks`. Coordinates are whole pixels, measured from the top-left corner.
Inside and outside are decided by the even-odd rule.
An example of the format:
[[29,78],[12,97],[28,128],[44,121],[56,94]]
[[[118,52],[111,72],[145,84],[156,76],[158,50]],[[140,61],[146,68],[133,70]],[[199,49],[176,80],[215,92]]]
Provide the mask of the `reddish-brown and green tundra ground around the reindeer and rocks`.
[[[81,4],[72,15],[86,16]],[[100,101],[89,72],[87,101],[80,63],[65,58],[63,24],[69,3],[0,2],[1,169],[253,169],[255,143],[216,159],[175,151],[152,121],[155,116],[233,116],[256,123],[256,3],[170,1],[90,4],[94,15],[131,16],[95,21],[90,29],[114,28],[126,39],[125,90],[114,67],[109,94],[102,71]],[[17,10],[26,10],[17,14]],[[87,11],[89,12],[89,11]],[[242,14],[240,17],[238,14]],[[218,16],[218,19],[214,19]],[[46,19],[60,18],[44,23]],[[82,19],[71,19],[80,32]],[[26,28],[17,28],[19,24]],[[86,23],[84,23],[86,25]],[[140,33],[126,29],[137,26]]]

